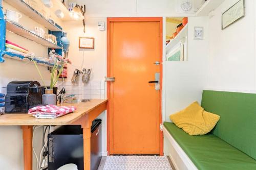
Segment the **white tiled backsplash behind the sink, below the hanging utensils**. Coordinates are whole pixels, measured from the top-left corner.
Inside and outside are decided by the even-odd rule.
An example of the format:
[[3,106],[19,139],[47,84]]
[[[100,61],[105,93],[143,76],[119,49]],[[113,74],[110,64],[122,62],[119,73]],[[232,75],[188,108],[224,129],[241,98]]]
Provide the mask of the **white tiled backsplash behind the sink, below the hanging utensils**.
[[58,90],[64,87],[66,94],[74,94],[77,99],[105,99],[104,81],[90,81],[88,84],[82,82],[72,84],[69,81],[65,81],[61,84],[61,81],[59,81],[58,84]]

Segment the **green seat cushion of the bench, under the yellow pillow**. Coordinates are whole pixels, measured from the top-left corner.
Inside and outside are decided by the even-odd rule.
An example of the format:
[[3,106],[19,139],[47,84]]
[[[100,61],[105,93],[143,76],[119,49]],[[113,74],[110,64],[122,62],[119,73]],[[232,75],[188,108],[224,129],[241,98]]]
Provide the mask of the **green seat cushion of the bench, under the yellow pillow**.
[[214,134],[190,136],[173,123],[164,127],[200,170],[256,169],[256,160]]

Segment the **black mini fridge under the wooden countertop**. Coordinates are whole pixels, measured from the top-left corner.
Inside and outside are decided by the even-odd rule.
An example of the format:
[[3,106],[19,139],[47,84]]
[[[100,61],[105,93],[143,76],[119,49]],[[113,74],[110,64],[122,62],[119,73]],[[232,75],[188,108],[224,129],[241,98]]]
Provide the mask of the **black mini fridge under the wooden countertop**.
[[[91,170],[97,170],[101,152],[101,119],[95,119],[91,127]],[[61,126],[48,135],[48,170],[56,170],[68,163],[83,170],[81,126]]]

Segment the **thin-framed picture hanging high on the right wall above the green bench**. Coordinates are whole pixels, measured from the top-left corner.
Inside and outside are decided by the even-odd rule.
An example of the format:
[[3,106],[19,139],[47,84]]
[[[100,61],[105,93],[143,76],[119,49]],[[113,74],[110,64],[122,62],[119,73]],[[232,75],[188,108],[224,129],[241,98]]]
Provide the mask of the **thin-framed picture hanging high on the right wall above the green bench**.
[[244,17],[244,0],[240,0],[222,14],[222,30]]

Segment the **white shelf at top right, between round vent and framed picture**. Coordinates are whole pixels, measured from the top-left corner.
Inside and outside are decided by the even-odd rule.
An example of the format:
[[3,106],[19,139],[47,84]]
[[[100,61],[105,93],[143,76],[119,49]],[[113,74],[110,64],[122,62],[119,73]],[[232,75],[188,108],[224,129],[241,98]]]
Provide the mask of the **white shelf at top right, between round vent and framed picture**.
[[196,16],[208,16],[209,12],[218,8],[223,2],[223,0],[208,0],[197,11]]

